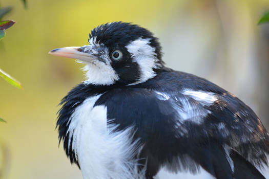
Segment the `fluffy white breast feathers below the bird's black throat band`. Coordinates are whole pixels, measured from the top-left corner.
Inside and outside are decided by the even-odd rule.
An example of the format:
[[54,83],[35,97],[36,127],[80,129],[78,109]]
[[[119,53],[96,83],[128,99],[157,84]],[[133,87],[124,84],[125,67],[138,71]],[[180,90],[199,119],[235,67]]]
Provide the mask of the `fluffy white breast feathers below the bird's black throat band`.
[[[132,143],[132,127],[112,132],[107,124],[107,107],[94,106],[101,95],[86,99],[70,118],[70,136],[84,179],[143,178],[134,156],[137,141]],[[144,172],[144,170],[143,170]]]

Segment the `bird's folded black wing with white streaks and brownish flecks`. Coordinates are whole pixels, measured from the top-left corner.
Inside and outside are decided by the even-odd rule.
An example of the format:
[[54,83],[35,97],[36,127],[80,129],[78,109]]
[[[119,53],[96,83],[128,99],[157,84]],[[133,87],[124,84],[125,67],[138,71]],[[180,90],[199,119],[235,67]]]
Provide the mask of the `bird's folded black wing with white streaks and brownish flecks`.
[[95,104],[107,106],[118,130],[135,126],[147,177],[164,165],[196,172],[198,164],[216,178],[264,178],[254,166],[267,165],[269,138],[252,109],[204,79],[167,73],[173,78],[113,89]]

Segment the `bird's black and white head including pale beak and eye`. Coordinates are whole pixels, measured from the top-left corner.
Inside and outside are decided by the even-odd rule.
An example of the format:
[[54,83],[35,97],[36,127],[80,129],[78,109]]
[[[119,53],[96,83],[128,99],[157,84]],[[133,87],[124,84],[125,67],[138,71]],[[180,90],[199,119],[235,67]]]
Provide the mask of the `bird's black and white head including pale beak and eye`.
[[89,37],[86,46],[49,52],[85,63],[86,83],[138,84],[156,76],[156,70],[163,66],[158,39],[145,28],[130,23],[107,23],[94,28]]

